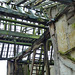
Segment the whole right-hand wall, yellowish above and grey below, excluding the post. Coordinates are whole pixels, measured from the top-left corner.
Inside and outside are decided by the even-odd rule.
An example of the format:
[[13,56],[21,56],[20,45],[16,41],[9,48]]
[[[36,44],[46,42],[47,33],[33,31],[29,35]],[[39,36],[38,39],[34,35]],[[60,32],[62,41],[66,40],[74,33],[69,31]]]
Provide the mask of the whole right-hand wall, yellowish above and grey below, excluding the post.
[[[73,15],[71,18],[68,19]],[[59,75],[75,75],[75,14],[67,13],[55,23],[59,52]]]

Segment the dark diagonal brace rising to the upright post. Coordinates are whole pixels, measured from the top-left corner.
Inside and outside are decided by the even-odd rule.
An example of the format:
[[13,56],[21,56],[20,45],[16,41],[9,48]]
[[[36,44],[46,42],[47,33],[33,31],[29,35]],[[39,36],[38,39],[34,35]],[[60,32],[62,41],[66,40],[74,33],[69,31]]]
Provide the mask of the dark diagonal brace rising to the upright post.
[[41,46],[43,43],[43,41],[45,39],[49,39],[50,38],[50,35],[49,35],[49,30],[47,30],[37,41],[35,41],[33,43],[33,45],[31,47],[29,47],[28,49],[26,49],[25,51],[19,53],[17,56],[15,56],[13,59],[22,59],[23,56],[29,52],[31,52],[31,50],[35,50],[37,49],[39,46]]

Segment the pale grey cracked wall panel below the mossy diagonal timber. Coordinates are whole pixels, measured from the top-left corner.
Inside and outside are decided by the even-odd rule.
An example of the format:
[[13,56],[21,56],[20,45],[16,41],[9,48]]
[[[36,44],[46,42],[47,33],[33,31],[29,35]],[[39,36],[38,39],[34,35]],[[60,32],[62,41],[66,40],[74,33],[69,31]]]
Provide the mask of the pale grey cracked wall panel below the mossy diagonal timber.
[[59,57],[60,75],[75,75],[75,63],[71,60]]

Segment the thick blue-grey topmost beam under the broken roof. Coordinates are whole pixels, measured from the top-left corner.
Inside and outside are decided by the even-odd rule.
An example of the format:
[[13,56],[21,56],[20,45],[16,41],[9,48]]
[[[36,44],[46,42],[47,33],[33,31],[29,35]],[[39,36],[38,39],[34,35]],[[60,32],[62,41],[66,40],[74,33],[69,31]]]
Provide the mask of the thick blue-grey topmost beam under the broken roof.
[[9,17],[20,18],[20,19],[24,19],[24,20],[28,20],[28,21],[32,21],[32,22],[38,22],[38,23],[44,24],[44,25],[48,21],[47,19],[32,16],[32,14],[21,13],[21,12],[18,12],[18,11],[12,10],[12,9],[7,9],[4,7],[0,7],[0,14],[5,15],[5,16],[8,15]]

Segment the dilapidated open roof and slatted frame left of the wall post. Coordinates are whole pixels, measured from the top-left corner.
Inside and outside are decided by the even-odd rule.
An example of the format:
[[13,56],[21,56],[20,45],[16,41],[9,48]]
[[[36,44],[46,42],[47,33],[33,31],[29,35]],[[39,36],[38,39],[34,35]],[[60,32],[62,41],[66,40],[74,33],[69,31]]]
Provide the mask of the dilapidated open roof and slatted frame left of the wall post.
[[[48,24],[69,10],[59,2],[74,3],[73,0],[0,0],[0,60],[8,60],[8,66],[14,64],[14,71],[11,74],[8,71],[8,75],[22,74],[22,64],[28,65],[27,75],[33,75],[33,70],[35,75],[44,75],[45,65],[46,74],[50,75],[49,65],[54,62]],[[58,13],[53,17],[49,13],[55,7]],[[29,64],[32,64],[31,70]]]

